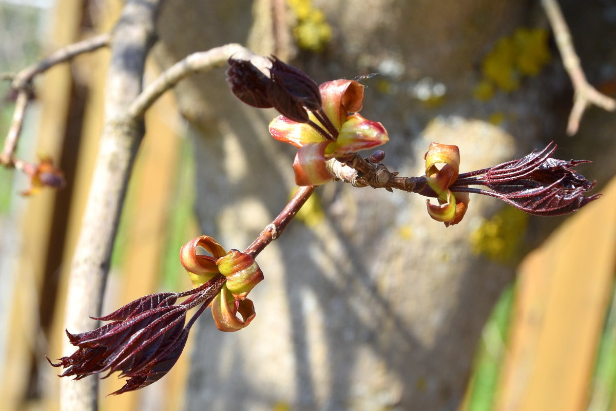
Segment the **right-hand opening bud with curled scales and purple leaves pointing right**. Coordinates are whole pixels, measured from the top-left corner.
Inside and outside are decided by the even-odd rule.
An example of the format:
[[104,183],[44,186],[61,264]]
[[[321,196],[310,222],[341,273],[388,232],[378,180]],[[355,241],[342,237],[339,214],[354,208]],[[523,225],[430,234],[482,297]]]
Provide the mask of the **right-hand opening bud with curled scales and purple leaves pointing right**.
[[[439,205],[428,204],[428,213],[449,226],[460,222],[468,207],[468,193],[500,198],[511,206],[538,216],[560,216],[577,211],[601,194],[586,196],[595,182],[575,173],[578,164],[588,160],[558,160],[551,158],[556,144],[551,142],[543,150],[534,150],[517,160],[490,168],[458,174],[460,153],[452,145],[430,144],[426,153],[426,189],[419,191],[436,196]],[[436,163],[445,163],[440,170]],[[457,176],[457,178],[456,178]],[[477,189],[469,185],[484,185]],[[455,196],[450,195],[454,192]],[[451,217],[455,198],[455,216]]]

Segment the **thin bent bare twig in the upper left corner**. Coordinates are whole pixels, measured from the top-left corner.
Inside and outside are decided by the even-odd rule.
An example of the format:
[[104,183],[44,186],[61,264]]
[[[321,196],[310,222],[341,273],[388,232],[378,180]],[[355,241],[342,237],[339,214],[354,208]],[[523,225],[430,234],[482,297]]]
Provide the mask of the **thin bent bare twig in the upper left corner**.
[[70,44],[55,51],[46,59],[34,63],[30,67],[26,67],[17,74],[2,73],[2,79],[11,79],[11,87],[17,91],[17,101],[15,102],[15,111],[13,119],[10,123],[9,133],[4,140],[4,148],[0,154],[0,163],[6,167],[22,168],[23,161],[15,158],[15,150],[17,142],[22,132],[23,118],[25,115],[28,100],[30,99],[32,80],[36,75],[39,75],[47,69],[54,67],[59,63],[67,62],[73,57],[86,52],[95,51],[100,47],[109,44],[110,35],[95,36],[79,43]]

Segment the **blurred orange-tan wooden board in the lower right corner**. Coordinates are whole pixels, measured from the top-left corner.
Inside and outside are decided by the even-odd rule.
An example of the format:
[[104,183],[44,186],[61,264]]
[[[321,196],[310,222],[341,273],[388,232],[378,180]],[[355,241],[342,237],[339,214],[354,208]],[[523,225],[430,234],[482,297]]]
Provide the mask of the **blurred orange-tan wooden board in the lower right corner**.
[[586,407],[616,268],[616,179],[519,269],[498,410]]

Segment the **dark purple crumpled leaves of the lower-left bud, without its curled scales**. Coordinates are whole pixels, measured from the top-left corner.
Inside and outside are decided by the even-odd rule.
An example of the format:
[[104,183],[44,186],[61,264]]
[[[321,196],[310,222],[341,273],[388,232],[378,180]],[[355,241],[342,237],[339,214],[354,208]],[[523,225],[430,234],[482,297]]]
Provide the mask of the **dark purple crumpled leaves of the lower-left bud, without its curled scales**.
[[[193,290],[147,295],[109,315],[92,317],[112,322],[85,333],[67,331],[68,340],[78,347],[77,351],[60,358],[57,363],[47,360],[54,367],[65,368],[60,376],[75,376],[75,380],[103,372],[107,375],[102,378],[107,378],[120,371],[120,377],[128,377],[128,380],[111,394],[144,388],[163,378],[176,364],[190,328],[225,282],[224,275],[217,274]],[[176,304],[177,298],[186,296],[187,299]],[[185,324],[188,310],[199,305],[201,307]]]

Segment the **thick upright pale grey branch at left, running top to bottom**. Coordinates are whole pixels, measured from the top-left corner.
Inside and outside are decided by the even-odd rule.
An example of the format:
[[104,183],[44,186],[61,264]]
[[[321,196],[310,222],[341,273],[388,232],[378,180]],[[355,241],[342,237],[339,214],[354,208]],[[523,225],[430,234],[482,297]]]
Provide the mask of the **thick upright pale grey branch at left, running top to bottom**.
[[[92,328],[88,316],[100,314],[129,174],[145,132],[143,121],[127,117],[126,110],[142,89],[160,2],[129,1],[112,32],[105,124],[68,281],[65,324],[70,332]],[[72,348],[67,341],[63,351],[68,353]],[[95,377],[62,380],[61,409],[96,410],[97,385]]]

